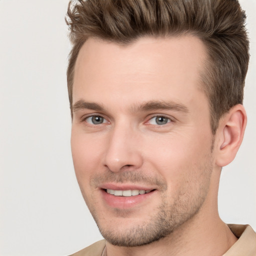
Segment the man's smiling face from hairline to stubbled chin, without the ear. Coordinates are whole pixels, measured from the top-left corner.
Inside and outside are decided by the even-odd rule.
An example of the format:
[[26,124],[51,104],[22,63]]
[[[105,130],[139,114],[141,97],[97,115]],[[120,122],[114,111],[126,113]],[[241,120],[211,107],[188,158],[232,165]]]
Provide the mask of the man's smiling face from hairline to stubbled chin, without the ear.
[[209,208],[204,57],[193,36],[140,38],[128,46],[90,38],[82,46],[72,157],[85,202],[109,242],[152,242]]

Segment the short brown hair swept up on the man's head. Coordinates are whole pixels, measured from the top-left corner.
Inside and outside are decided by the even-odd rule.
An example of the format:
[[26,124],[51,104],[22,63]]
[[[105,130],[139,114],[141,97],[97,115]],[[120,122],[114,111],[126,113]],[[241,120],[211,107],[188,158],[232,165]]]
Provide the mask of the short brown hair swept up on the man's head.
[[66,22],[73,43],[67,68],[71,114],[74,65],[88,37],[128,44],[142,36],[195,35],[208,55],[201,76],[213,134],[222,114],[242,103],[249,45],[238,0],[70,1]]

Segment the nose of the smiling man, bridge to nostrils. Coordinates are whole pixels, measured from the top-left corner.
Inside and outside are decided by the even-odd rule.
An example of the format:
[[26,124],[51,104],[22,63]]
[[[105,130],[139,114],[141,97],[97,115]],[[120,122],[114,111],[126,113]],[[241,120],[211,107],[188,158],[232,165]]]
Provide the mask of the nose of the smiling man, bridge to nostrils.
[[104,165],[113,172],[141,167],[143,159],[138,132],[125,125],[116,125],[109,133]]

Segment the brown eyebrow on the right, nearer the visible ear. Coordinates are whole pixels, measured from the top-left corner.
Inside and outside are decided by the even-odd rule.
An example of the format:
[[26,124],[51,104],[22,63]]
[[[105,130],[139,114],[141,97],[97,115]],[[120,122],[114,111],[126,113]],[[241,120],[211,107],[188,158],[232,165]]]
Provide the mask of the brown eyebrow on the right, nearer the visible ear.
[[188,113],[188,108],[180,103],[173,101],[147,101],[141,105],[133,106],[132,111],[150,111],[150,110],[173,110]]

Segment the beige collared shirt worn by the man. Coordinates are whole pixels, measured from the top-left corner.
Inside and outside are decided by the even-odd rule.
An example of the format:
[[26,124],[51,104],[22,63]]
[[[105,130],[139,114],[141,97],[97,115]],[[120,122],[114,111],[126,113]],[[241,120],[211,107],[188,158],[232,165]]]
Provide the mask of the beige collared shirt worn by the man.
[[[222,256],[256,256],[256,233],[249,225],[228,224],[239,238]],[[97,241],[70,256],[106,256],[105,240]]]

